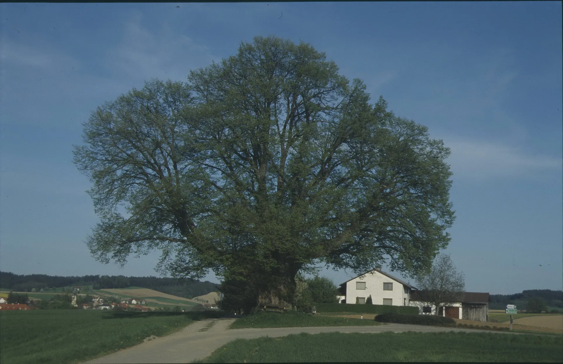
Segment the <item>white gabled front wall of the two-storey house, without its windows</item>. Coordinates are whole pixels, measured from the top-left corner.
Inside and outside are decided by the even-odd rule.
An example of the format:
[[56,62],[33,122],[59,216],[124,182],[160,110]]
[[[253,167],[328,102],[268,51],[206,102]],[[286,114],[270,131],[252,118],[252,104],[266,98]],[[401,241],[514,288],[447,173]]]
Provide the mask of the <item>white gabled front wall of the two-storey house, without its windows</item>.
[[[365,282],[365,290],[356,289],[356,282]],[[392,283],[393,290],[383,290],[383,283]],[[346,282],[346,303],[356,303],[356,297],[372,296],[373,304],[383,304],[384,298],[392,299],[394,306],[409,305],[409,289],[404,287],[400,282],[383,275],[380,272],[373,271],[366,273],[363,277],[356,277]]]

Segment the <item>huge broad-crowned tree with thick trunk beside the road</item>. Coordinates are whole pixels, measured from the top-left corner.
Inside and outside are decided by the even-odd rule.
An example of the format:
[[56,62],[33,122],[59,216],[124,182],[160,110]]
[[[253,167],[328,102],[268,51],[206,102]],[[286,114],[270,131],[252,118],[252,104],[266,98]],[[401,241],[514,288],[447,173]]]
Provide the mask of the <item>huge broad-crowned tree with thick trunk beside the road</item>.
[[173,276],[211,269],[291,302],[316,263],[410,275],[449,241],[449,150],[306,43],[256,37],[187,83],[151,80],[83,140],[102,262],[160,249]]

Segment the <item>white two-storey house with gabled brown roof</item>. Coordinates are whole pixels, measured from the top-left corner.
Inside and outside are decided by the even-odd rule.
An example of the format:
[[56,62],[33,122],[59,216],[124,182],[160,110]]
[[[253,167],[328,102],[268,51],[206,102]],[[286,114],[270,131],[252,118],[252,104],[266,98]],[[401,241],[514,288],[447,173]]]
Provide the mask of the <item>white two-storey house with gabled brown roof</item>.
[[408,306],[413,289],[416,287],[376,268],[342,283],[339,293],[345,296],[346,303],[354,304],[356,299],[365,303],[371,295],[373,304]]

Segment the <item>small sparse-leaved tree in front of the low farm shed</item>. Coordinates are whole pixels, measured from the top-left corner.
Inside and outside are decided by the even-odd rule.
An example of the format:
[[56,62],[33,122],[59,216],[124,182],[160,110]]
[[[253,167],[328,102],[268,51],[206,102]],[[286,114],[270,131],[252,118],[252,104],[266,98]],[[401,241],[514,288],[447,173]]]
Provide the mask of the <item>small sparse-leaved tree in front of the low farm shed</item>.
[[430,272],[418,276],[417,285],[419,291],[411,299],[435,305],[436,314],[440,305],[460,302],[465,289],[463,272],[457,272],[449,254],[438,255]]

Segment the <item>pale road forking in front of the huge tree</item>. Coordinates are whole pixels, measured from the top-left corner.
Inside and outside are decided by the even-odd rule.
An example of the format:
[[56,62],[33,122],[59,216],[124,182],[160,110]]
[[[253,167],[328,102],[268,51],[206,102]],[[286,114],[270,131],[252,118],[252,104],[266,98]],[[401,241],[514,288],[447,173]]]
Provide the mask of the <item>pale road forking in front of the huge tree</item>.
[[[340,326],[340,327],[276,327],[269,329],[235,329],[227,327],[236,320],[235,318],[216,318],[196,321],[185,329],[157,338],[128,349],[120,350],[100,358],[93,359],[84,364],[102,363],[187,363],[195,359],[204,358],[222,345],[235,339],[255,339],[261,336],[287,336],[308,332],[491,332],[494,334],[514,334],[503,331],[484,331],[470,329],[452,329],[436,326],[403,325],[390,323],[380,326]],[[216,321],[207,331],[200,331],[208,327],[211,321]]]

